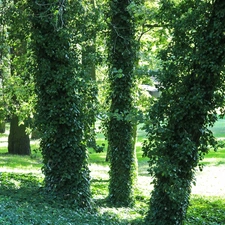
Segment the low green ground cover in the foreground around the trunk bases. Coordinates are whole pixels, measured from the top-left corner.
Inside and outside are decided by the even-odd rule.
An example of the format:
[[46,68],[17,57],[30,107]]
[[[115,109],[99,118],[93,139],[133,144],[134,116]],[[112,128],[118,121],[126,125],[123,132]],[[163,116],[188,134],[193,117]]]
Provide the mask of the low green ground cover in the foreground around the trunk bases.
[[[107,204],[108,180],[92,180],[92,210],[73,208],[43,190],[43,177],[1,173],[0,225],[138,225],[148,210],[148,196],[136,191],[133,208]],[[224,225],[225,199],[192,196],[185,225]]]

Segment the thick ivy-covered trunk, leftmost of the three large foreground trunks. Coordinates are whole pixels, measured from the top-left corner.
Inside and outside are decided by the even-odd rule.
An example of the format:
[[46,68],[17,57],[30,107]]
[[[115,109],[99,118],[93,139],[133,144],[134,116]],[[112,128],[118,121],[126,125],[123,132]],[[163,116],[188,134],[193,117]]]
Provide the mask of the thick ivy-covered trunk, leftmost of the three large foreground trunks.
[[84,145],[80,77],[81,52],[73,25],[79,1],[29,1],[32,39],[37,61],[37,125],[41,135],[45,187],[79,207],[90,204],[90,176]]

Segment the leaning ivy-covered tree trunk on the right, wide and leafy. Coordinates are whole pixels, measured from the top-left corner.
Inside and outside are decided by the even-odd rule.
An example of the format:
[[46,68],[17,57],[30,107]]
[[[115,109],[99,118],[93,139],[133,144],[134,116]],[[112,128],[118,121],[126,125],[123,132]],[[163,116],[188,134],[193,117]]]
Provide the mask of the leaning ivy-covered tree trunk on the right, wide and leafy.
[[144,146],[154,177],[146,224],[181,225],[195,169],[216,143],[208,127],[224,105],[225,2],[162,2],[173,33],[161,52],[162,95],[149,113]]

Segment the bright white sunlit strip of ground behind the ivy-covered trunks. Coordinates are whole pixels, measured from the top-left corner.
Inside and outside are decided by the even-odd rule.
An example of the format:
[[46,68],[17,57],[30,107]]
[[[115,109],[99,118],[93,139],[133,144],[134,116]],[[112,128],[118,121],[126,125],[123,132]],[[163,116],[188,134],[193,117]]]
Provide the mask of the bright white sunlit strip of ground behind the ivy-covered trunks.
[[[7,134],[7,133],[6,133]],[[33,141],[31,141],[33,144]],[[0,147],[7,147],[7,137],[0,138]],[[206,159],[209,160],[209,159]],[[192,186],[192,194],[200,196],[221,196],[225,197],[225,159],[223,161],[218,161],[215,159],[215,162],[210,159],[208,164],[206,164],[202,171],[198,168],[196,169],[196,182]],[[40,162],[40,161],[39,161]],[[152,178],[148,175],[147,172],[148,164],[147,162],[141,162],[139,167],[139,177],[138,177],[138,190],[140,190],[144,195],[148,196],[149,192],[153,189],[153,185],[150,185]],[[91,176],[93,179],[104,179],[108,180],[108,171],[109,167],[102,163],[100,164],[90,164]],[[0,172],[24,172],[24,169],[20,168],[5,168],[0,166]],[[29,169],[29,172],[41,173],[41,170],[37,168]],[[101,174],[101,177],[98,177],[97,174]],[[97,175],[97,177],[96,177]]]

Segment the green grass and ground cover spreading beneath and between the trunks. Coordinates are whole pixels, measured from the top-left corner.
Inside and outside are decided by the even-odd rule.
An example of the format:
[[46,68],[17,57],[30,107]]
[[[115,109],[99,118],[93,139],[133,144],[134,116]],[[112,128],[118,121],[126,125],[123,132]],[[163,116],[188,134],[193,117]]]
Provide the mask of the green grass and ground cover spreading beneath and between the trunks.
[[[219,120],[213,128],[215,136],[225,137],[225,120]],[[98,144],[106,142],[99,134]],[[91,212],[73,209],[42,191],[42,158],[38,141],[32,141],[31,156],[12,156],[7,153],[7,135],[0,135],[0,225],[138,225],[148,210],[152,189],[148,175],[148,159],[142,158],[141,142],[144,131],[139,129],[137,138],[138,185],[135,190],[136,204],[133,208],[114,208],[106,204],[108,195],[109,166],[106,153],[89,150],[91,192],[95,204]],[[107,145],[107,143],[105,143]],[[224,168],[225,148],[210,151],[204,159],[207,168]],[[210,177],[208,178],[210,179]],[[207,183],[206,183],[207,186]],[[202,187],[204,190],[205,187]],[[225,196],[191,196],[185,225],[224,225]]]

